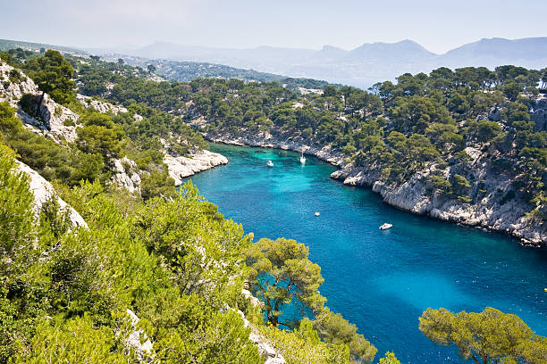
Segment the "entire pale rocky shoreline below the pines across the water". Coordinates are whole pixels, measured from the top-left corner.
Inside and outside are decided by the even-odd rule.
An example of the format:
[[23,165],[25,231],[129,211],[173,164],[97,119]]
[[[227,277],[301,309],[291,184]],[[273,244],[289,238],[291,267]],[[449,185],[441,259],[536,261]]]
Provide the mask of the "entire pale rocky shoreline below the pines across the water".
[[[500,175],[492,170],[490,161],[479,150],[467,148],[472,157],[469,163],[475,180],[483,181],[472,186],[471,195],[475,203],[460,203],[448,199],[434,191],[428,180],[433,170],[422,170],[401,186],[388,186],[380,179],[381,171],[374,165],[366,168],[353,166],[345,155],[330,146],[310,145],[299,136],[272,135],[258,133],[255,135],[230,136],[204,133],[206,140],[226,145],[248,145],[265,148],[276,148],[314,155],[340,168],[332,173],[331,178],[341,180],[349,186],[365,186],[382,195],[384,203],[403,211],[459,223],[470,227],[481,227],[518,238],[526,246],[547,246],[547,227],[545,224],[530,223],[525,218],[526,208],[522,201],[510,199],[504,201],[512,191],[509,176]],[[457,169],[458,166],[450,167]]]

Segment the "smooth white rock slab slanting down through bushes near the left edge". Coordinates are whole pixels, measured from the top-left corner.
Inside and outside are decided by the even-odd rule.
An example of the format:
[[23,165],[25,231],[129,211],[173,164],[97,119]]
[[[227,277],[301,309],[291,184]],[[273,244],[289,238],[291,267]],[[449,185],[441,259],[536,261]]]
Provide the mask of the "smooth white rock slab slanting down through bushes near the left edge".
[[[17,161],[18,166],[17,170],[20,170],[22,172],[25,172],[29,175],[29,185],[30,185],[30,192],[34,194],[34,212],[39,214],[42,205],[46,203],[47,200],[49,200],[53,195],[55,195],[55,189],[49,182],[46,181],[46,178],[43,178],[38,174],[37,171],[32,170],[28,165],[25,163],[22,163],[21,161]],[[70,219],[72,222],[72,227],[88,227],[88,224],[86,224],[86,221],[82,219],[78,211],[72,209],[72,207],[65,203],[61,198],[57,197],[57,201],[59,203],[59,207],[62,210],[68,210],[70,214]]]

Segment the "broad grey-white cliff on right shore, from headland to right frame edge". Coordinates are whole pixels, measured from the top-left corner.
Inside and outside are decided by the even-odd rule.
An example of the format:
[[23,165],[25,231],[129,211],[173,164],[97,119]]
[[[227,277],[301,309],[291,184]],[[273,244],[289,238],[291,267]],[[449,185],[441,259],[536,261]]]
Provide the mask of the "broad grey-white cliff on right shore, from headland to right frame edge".
[[[400,186],[387,185],[380,178],[377,166],[356,168],[352,165],[332,173],[351,186],[370,186],[381,194],[384,203],[401,210],[426,215],[434,219],[484,227],[518,237],[522,244],[540,246],[547,244],[547,226],[526,219],[527,205],[512,186],[508,174],[494,170],[484,153],[473,148],[466,152],[472,157],[467,166],[454,165],[447,170],[422,170]],[[470,203],[461,203],[437,193],[429,181],[433,172],[445,177],[460,174],[471,181]]]

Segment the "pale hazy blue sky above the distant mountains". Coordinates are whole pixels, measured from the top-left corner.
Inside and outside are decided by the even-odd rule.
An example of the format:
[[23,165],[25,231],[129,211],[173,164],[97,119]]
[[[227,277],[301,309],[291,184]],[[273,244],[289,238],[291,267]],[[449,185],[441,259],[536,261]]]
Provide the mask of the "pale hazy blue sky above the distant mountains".
[[78,46],[352,49],[405,38],[435,53],[544,37],[547,0],[0,0],[0,38]]

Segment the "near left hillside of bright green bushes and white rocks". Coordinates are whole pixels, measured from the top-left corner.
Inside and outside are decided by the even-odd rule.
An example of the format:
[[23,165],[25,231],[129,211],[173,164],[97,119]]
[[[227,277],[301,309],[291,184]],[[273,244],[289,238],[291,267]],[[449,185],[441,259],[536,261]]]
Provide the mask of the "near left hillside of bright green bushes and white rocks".
[[[164,153],[206,147],[181,117],[82,98],[55,51],[1,57],[0,362],[373,360],[374,345],[324,306],[306,246],[255,245],[194,186],[175,190]],[[134,191],[115,183],[130,170]],[[290,302],[304,324],[278,319]]]

